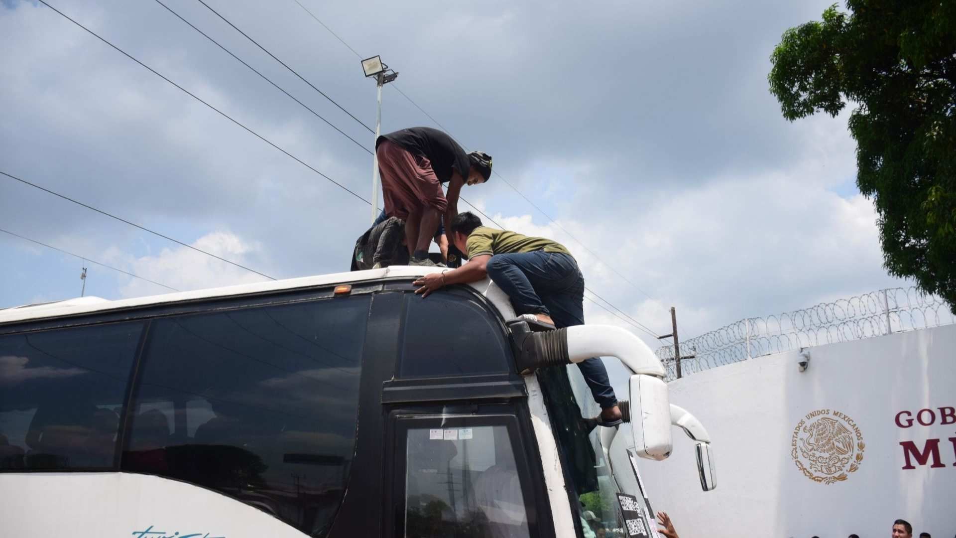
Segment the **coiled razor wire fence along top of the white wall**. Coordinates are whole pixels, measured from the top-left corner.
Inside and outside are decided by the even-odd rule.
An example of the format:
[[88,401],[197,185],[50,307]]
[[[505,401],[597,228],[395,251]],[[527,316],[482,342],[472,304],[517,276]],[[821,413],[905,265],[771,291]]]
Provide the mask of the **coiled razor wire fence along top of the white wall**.
[[[746,318],[680,342],[682,375],[802,347],[849,342],[893,332],[956,323],[939,297],[916,287],[887,288],[834,303]],[[674,347],[657,350],[674,379]],[[687,358],[692,356],[692,358]]]

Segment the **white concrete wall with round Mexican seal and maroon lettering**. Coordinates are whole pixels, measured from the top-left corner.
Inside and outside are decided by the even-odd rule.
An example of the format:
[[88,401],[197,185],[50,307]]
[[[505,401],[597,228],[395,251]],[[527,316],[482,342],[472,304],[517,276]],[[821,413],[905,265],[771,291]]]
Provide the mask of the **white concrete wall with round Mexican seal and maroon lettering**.
[[[671,383],[671,402],[697,415],[713,438],[718,487],[701,491],[691,444],[675,431],[670,459],[641,465],[654,508],[671,515],[682,538],[888,537],[897,518],[913,524],[914,536],[956,534],[956,423],[941,424],[938,409],[956,407],[956,325],[810,352],[805,372],[793,351]],[[900,412],[915,419],[922,409],[933,411],[933,425],[896,424]],[[794,463],[794,428],[815,410],[851,417],[865,443],[845,481],[814,482]],[[929,422],[929,413],[921,417]],[[915,468],[903,469],[900,443],[922,450],[927,439],[940,439],[941,466],[911,458]],[[855,459],[856,443],[853,451]]]

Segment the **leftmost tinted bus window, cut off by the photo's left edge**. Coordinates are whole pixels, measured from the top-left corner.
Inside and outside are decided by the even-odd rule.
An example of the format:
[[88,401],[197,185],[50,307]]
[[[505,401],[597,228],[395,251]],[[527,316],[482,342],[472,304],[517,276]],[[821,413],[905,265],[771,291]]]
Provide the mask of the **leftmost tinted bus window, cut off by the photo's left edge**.
[[0,470],[113,467],[142,324],[0,336]]

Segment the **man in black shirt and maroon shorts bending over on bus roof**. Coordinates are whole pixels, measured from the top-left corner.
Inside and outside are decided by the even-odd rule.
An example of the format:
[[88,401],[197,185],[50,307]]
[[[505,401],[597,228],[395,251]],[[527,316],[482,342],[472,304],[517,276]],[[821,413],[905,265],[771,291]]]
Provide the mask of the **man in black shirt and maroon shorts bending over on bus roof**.
[[[445,230],[458,214],[463,185],[478,185],[491,175],[487,153],[466,153],[450,136],[431,127],[411,127],[381,135],[375,153],[381,170],[385,214],[405,221],[409,265],[434,265],[428,244],[443,219]],[[447,195],[442,184],[448,184]]]

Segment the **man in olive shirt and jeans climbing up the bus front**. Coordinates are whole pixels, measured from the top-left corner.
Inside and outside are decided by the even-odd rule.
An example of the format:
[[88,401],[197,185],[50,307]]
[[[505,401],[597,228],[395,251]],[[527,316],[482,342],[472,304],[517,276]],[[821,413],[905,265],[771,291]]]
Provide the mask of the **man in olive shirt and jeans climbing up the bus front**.
[[[415,293],[428,297],[448,284],[489,277],[511,298],[514,312],[532,322],[561,328],[584,325],[584,276],[571,252],[544,237],[529,237],[482,226],[473,213],[459,213],[448,227],[449,240],[468,258],[458,269],[415,280]],[[577,364],[601,408],[598,424],[620,423],[618,399],[604,363],[590,358]]]

